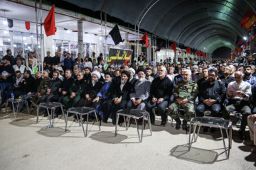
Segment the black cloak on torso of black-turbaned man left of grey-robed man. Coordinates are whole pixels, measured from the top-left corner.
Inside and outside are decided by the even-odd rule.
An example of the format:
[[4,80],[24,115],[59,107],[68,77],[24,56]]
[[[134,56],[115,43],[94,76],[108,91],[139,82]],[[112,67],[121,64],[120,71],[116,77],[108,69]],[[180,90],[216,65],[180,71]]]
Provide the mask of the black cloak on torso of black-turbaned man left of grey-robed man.
[[120,98],[122,96],[122,101],[129,100],[129,94],[132,91],[132,84],[130,84],[128,81],[126,84],[124,84],[124,87],[121,91],[120,89],[121,81],[115,86],[112,98]]

